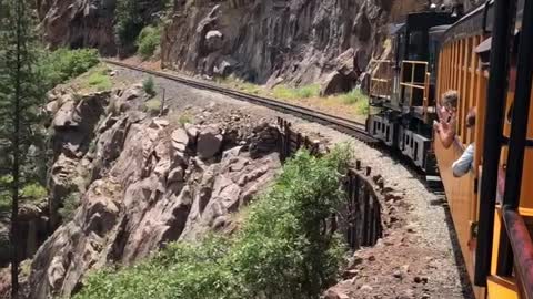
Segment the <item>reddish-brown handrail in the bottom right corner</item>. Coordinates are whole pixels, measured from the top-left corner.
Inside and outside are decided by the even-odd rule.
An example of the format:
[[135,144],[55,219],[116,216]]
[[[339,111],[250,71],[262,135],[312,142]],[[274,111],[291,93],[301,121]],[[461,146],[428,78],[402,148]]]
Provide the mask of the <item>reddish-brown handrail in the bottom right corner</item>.
[[524,299],[533,299],[533,240],[524,218],[512,208],[504,208],[503,220],[514,252],[514,267]]

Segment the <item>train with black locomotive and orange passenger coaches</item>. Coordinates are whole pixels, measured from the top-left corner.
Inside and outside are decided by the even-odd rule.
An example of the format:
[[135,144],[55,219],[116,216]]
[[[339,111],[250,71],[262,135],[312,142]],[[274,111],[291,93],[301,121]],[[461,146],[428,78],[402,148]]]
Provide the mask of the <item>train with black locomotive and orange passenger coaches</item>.
[[[368,133],[440,175],[475,297],[533,298],[533,1],[411,13],[389,33],[389,59],[371,62]],[[449,90],[459,103],[446,148],[433,123]],[[454,177],[470,144],[472,168]]]

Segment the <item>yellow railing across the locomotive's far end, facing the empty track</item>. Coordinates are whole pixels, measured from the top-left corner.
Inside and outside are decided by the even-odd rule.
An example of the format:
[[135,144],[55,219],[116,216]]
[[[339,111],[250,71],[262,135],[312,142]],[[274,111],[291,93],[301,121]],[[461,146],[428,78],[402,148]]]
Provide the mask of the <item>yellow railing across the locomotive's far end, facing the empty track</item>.
[[392,80],[394,78],[392,61],[371,60],[370,96],[378,99],[391,99]]

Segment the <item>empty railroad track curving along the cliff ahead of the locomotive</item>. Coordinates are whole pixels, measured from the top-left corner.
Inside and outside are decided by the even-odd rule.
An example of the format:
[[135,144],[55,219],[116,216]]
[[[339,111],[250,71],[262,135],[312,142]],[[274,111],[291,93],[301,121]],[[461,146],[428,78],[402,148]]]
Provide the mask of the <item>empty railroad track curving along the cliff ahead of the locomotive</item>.
[[164,79],[168,79],[168,80],[171,80],[171,81],[184,84],[184,85],[189,85],[189,86],[194,87],[194,89],[207,90],[207,91],[211,91],[211,92],[215,92],[215,93],[220,93],[220,94],[231,96],[235,100],[247,101],[247,102],[252,103],[252,104],[266,106],[269,109],[272,109],[272,110],[275,110],[275,111],[279,111],[279,112],[283,112],[283,113],[288,113],[288,114],[291,114],[291,115],[294,115],[294,116],[299,116],[301,118],[304,118],[304,120],[308,120],[308,121],[311,121],[311,122],[321,123],[323,125],[334,127],[335,130],[338,130],[340,132],[343,132],[348,135],[351,135],[351,136],[353,136],[353,137],[355,137],[360,141],[363,141],[365,143],[370,143],[370,144],[378,143],[378,141],[375,138],[373,138],[371,135],[369,135],[366,133],[366,128],[365,128],[364,124],[359,123],[359,122],[354,122],[354,121],[351,121],[351,120],[348,120],[348,118],[334,116],[334,115],[326,114],[326,113],[323,113],[323,112],[320,112],[320,111],[311,110],[311,109],[308,109],[308,107],[302,107],[302,106],[299,106],[299,105],[289,104],[289,103],[285,103],[285,102],[281,102],[281,101],[264,97],[264,96],[258,96],[258,95],[252,95],[252,94],[230,90],[230,89],[222,87],[222,86],[219,86],[219,85],[215,85],[215,84],[212,84],[212,83],[184,78],[184,76],[181,76],[181,75],[175,75],[175,74],[170,74],[170,73],[165,73],[165,72],[148,70],[148,69],[144,69],[144,68],[131,65],[131,64],[119,62],[119,61],[115,61],[115,60],[103,59],[102,61],[105,62],[105,63],[109,63],[109,64],[117,65],[117,66],[134,70],[134,71],[138,71],[138,72],[148,73],[148,74],[151,74],[153,76],[164,78]]

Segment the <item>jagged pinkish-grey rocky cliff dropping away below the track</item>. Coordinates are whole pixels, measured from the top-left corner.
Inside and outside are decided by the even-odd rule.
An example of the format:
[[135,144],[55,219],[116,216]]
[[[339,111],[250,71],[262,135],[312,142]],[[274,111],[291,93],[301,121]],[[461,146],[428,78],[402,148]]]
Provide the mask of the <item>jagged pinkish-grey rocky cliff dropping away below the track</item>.
[[[269,124],[245,136],[227,124],[181,127],[139,112],[143,97],[131,89],[108,94],[105,102],[117,112],[107,109],[109,114],[100,115],[92,130],[94,148],[79,151],[70,138],[61,140],[61,148],[71,148],[90,175],[73,219],[33,258],[30,298],[69,297],[88,270],[130,265],[169,241],[195,240],[208,230],[231,231],[231,214],[281,167],[275,128]],[[91,123],[84,120],[91,114],[71,116],[71,107],[82,102],[68,103],[58,105],[57,128]],[[87,103],[100,110],[98,101]]]

